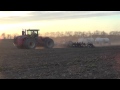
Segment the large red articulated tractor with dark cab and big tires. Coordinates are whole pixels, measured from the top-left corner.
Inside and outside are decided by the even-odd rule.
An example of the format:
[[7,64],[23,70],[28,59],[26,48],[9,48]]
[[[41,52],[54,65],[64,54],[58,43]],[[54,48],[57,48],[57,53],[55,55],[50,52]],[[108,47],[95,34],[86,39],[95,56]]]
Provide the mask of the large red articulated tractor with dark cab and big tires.
[[13,44],[19,49],[53,48],[54,41],[49,37],[38,36],[38,31],[37,29],[23,30],[21,36],[14,38]]

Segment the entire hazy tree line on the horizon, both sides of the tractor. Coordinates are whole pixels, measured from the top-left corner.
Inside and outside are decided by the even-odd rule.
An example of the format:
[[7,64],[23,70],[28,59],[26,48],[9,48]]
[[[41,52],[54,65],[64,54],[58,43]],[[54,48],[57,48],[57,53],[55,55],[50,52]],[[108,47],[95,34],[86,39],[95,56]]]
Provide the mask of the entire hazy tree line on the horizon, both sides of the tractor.
[[[48,37],[53,37],[53,38],[62,38],[62,37],[114,37],[118,38],[120,37],[120,31],[110,31],[109,33],[105,31],[99,31],[96,30],[94,32],[82,32],[82,31],[66,31],[66,32],[46,32],[45,34],[39,34],[41,36],[48,36]],[[2,33],[1,37],[3,39],[13,39],[14,37],[18,36],[18,34],[6,34]]]

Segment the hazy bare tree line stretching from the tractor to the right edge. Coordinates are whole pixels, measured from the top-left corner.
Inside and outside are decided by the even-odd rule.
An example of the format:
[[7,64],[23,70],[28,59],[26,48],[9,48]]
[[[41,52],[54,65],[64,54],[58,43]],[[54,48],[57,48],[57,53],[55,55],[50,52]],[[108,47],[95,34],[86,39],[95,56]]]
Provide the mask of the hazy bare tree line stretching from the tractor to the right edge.
[[45,36],[49,37],[107,37],[107,36],[120,36],[120,31],[105,31],[96,30],[94,32],[81,32],[81,31],[66,31],[66,32],[46,32]]

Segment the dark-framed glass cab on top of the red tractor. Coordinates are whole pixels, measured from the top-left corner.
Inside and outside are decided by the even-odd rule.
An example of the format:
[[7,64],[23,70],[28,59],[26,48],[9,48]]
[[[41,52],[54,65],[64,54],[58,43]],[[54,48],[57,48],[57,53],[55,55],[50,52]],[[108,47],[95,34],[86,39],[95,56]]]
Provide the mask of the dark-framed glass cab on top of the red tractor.
[[28,29],[25,31],[22,31],[22,35],[28,35],[32,37],[38,37],[38,29]]

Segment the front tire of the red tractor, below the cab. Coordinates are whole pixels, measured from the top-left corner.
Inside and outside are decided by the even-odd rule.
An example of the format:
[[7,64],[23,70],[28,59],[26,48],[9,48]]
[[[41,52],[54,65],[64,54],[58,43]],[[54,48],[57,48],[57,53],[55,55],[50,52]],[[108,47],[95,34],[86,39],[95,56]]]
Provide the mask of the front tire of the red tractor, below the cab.
[[34,39],[26,39],[24,41],[24,48],[25,49],[35,49],[36,48],[36,42]]

